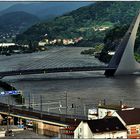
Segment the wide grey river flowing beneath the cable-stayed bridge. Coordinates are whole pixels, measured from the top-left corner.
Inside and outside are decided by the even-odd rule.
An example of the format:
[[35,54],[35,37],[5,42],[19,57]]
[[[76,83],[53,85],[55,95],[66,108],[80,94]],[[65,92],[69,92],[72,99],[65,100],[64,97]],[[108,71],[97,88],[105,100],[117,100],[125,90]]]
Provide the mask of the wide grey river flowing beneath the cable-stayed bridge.
[[[17,69],[20,66],[22,69],[22,63],[26,68],[30,67],[29,63],[31,67],[35,67],[35,63],[40,64],[39,67],[42,64],[52,67],[52,63],[53,66],[59,66],[59,63],[60,66],[104,65],[94,56],[80,55],[81,50],[83,48],[57,48],[48,52],[28,54],[31,56],[28,59],[35,60],[34,62],[27,61],[27,55],[1,56],[0,63],[4,63],[5,67],[0,67],[4,70],[9,64],[13,66],[12,68]],[[107,103],[119,104],[119,101],[122,101],[129,106],[140,107],[140,75],[106,78],[103,71],[95,71],[11,76],[5,77],[3,81],[22,90],[26,104],[29,104],[31,97],[33,107],[36,109],[40,108],[40,95],[42,95],[43,110],[55,113],[64,113],[66,104],[68,113],[87,113],[88,108],[95,107],[104,99]],[[1,100],[2,98],[0,97]]]

